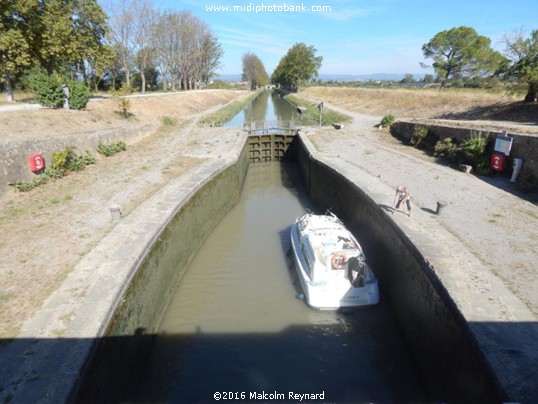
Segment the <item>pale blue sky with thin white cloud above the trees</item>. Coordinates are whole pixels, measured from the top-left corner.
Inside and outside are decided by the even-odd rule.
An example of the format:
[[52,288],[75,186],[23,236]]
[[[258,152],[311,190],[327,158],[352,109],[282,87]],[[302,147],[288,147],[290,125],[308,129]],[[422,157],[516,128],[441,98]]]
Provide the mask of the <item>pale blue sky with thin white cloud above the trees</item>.
[[[224,50],[220,74],[241,74],[241,57],[252,52],[271,75],[287,51],[303,42],[323,56],[320,74],[423,75],[432,70],[420,66],[431,64],[423,57],[422,45],[441,31],[472,27],[502,52],[505,34],[521,31],[528,37],[538,29],[538,0],[153,0],[153,4],[162,10],[191,10],[211,26]],[[229,11],[216,9],[228,6]],[[234,6],[241,8],[234,11]],[[320,11],[314,11],[315,6]]]

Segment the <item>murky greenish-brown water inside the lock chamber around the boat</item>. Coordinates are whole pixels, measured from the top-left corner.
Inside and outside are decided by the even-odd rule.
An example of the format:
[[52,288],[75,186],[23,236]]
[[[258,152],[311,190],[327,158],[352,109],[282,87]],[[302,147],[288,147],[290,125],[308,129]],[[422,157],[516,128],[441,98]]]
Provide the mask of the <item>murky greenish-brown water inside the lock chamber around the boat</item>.
[[240,202],[177,287],[133,388],[138,401],[212,402],[215,392],[244,392],[243,402],[263,392],[423,401],[384,303],[344,314],[312,310],[295,297],[300,284],[286,252],[291,223],[312,208],[305,195],[294,165],[249,167]]

